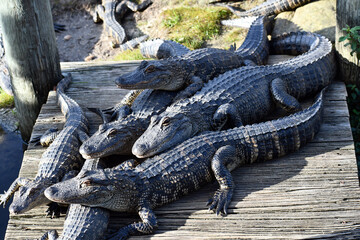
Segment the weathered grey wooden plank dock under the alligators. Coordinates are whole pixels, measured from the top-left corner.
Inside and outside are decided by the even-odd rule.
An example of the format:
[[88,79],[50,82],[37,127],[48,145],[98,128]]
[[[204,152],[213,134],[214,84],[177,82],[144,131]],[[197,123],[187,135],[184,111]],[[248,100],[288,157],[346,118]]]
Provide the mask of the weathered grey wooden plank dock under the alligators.
[[[274,61],[274,57],[271,58]],[[275,60],[278,61],[278,60]],[[63,63],[74,82],[67,91],[84,109],[107,108],[126,91],[114,85],[116,76],[139,62]],[[360,188],[354,144],[343,83],[334,82],[326,93],[324,121],[316,138],[300,151],[248,165],[233,172],[236,189],[227,217],[207,211],[205,203],[217,185],[155,209],[159,228],[153,239],[360,239]],[[87,112],[91,133],[100,118]],[[36,121],[33,135],[62,127],[64,117],[50,92]],[[42,147],[29,147],[20,175],[34,177]],[[6,239],[35,239],[50,229],[62,230],[65,215],[45,217],[46,206],[11,215]],[[109,228],[138,220],[136,214],[114,213]]]

